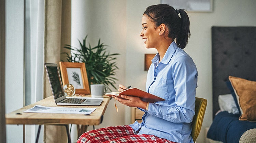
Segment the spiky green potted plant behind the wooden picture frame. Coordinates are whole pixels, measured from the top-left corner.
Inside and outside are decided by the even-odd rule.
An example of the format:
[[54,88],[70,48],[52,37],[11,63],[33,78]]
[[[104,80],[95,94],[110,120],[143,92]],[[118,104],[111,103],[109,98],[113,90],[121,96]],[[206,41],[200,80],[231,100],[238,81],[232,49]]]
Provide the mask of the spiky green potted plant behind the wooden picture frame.
[[[88,35],[87,35],[88,36]],[[119,53],[110,54],[106,51],[106,46],[98,41],[98,45],[91,48],[86,46],[86,38],[83,39],[83,42],[80,42],[80,48],[74,48],[71,45],[65,45],[64,48],[70,50],[70,54],[67,54],[68,62],[84,62],[86,66],[86,72],[88,77],[88,82],[90,84],[105,84],[108,89],[111,91],[109,86],[112,86],[114,89],[115,81],[114,78],[115,70],[118,69],[116,66],[116,55]],[[117,90],[117,89],[116,89]],[[111,91],[112,92],[112,91]]]

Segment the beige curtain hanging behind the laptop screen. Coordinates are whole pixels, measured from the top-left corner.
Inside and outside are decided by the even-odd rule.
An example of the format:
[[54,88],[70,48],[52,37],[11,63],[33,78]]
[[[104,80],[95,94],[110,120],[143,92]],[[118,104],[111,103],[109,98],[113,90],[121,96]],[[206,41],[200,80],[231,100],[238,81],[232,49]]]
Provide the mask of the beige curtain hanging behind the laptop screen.
[[[44,0],[44,62],[59,63],[64,44],[70,44],[71,0]],[[50,84],[44,71],[44,98],[52,96]],[[45,143],[68,141],[65,126],[44,126]]]

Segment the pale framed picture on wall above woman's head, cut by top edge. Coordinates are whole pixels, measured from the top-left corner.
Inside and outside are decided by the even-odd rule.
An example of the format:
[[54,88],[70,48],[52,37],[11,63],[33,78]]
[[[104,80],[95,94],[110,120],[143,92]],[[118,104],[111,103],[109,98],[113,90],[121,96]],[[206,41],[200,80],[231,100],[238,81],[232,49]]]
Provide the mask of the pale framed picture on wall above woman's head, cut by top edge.
[[213,0],[161,0],[161,3],[171,5],[174,9],[184,9],[188,12],[212,12]]

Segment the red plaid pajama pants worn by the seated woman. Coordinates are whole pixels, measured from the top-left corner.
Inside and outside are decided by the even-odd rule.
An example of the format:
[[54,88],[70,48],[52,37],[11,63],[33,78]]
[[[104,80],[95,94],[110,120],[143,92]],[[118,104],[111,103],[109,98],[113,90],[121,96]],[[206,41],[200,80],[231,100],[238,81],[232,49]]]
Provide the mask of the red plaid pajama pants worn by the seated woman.
[[87,131],[77,143],[174,143],[151,134],[137,134],[129,125]]

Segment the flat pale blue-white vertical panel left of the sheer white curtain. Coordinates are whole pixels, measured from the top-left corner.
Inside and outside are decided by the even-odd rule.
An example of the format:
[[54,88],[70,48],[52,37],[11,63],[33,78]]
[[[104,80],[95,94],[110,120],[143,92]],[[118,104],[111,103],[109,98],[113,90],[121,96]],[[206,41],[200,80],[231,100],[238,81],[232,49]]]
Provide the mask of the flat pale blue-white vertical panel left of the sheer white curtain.
[[[23,1],[5,1],[5,113],[23,107],[25,82],[23,7]],[[23,125],[6,125],[6,142],[23,142]]]

